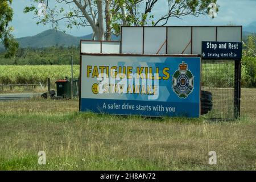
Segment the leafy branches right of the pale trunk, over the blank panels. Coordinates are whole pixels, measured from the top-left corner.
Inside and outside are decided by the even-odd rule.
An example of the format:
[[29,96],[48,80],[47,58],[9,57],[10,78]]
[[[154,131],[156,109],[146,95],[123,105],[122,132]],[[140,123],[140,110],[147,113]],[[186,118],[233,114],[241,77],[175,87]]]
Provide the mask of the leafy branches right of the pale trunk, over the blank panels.
[[[170,18],[181,18],[182,16],[208,14],[210,3],[217,3],[217,0],[193,0],[180,1],[168,0],[168,6],[163,7],[163,13],[159,19],[154,18],[154,6],[162,1],[140,1],[140,0],[115,0],[118,6],[125,5],[126,14],[112,9],[111,25],[115,35],[120,34],[120,25],[126,26],[164,26]],[[216,5],[216,13],[218,5]],[[214,18],[214,17],[212,17]]]

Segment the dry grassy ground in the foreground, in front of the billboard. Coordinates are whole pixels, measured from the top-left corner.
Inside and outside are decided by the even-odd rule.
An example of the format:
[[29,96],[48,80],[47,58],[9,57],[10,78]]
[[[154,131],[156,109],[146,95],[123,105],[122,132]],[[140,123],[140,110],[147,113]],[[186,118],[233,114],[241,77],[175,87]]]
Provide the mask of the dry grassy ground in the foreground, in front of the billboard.
[[256,89],[243,89],[239,121],[209,122],[79,114],[78,101],[0,102],[0,169],[256,170],[255,103]]

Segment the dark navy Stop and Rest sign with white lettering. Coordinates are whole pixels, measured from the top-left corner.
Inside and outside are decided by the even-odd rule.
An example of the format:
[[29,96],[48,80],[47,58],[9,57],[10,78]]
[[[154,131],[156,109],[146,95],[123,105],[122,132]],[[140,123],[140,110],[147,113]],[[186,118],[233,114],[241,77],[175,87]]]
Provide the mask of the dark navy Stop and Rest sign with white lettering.
[[203,59],[241,59],[241,42],[202,41]]

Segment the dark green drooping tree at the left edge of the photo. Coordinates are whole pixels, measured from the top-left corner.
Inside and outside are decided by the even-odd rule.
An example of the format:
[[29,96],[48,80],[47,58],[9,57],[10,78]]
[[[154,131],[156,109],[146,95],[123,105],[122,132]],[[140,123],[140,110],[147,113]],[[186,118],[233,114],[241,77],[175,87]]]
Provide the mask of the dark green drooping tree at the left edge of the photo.
[[9,22],[13,19],[11,2],[12,0],[0,1],[0,43],[3,44],[7,50],[5,57],[14,56],[19,46],[14,36],[11,35],[13,28],[9,27]]

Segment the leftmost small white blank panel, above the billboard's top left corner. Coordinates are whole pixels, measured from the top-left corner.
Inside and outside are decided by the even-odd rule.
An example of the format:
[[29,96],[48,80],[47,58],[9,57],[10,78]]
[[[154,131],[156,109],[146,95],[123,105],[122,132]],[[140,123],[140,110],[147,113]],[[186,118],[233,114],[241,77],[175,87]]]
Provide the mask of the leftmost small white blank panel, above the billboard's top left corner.
[[82,41],[81,53],[101,53],[100,41]]

